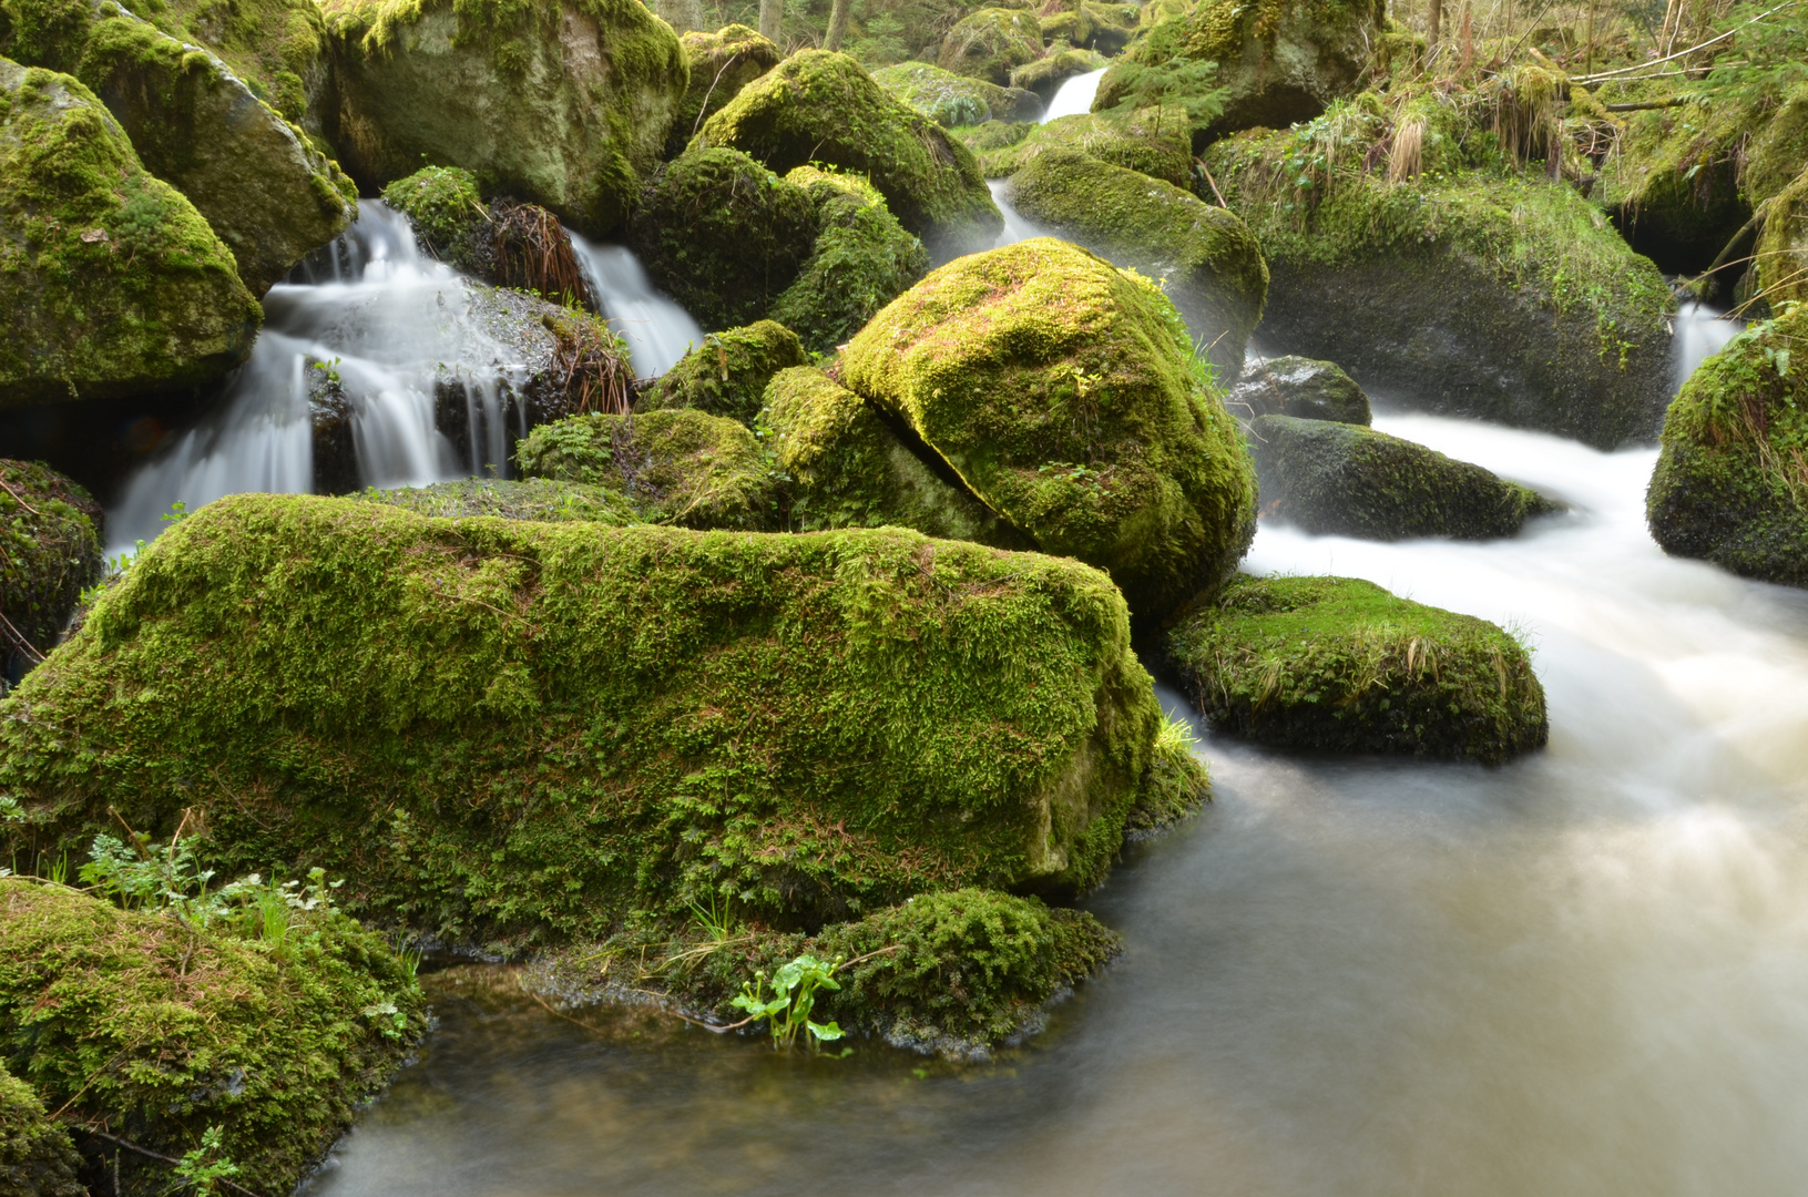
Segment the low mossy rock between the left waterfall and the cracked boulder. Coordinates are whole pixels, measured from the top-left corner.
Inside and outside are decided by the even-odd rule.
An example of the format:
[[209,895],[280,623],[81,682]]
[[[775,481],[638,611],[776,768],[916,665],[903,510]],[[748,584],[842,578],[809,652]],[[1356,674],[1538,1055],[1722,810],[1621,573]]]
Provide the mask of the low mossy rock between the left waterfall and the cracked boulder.
[[528,477],[622,495],[642,519],[680,528],[770,528],[777,490],[745,425],[692,409],[588,414],[544,423],[515,447]]

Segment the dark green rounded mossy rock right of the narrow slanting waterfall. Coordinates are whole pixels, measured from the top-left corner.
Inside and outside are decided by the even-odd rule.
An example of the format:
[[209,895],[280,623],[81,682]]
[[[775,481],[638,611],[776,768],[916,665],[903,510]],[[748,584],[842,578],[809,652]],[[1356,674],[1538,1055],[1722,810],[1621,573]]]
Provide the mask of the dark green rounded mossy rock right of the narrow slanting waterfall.
[[660,166],[627,240],[653,284],[705,329],[752,324],[797,277],[815,206],[739,150],[691,148]]

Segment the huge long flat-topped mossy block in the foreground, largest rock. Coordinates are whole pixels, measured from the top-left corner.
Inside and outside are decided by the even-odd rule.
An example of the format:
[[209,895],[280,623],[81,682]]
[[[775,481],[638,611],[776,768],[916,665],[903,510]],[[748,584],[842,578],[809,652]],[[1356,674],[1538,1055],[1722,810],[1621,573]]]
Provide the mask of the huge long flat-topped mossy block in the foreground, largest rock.
[[709,895],[815,924],[1087,888],[1163,721],[1074,561],[313,495],[165,532],[5,703],[0,790],[52,855],[197,808],[222,872],[307,861],[515,942]]

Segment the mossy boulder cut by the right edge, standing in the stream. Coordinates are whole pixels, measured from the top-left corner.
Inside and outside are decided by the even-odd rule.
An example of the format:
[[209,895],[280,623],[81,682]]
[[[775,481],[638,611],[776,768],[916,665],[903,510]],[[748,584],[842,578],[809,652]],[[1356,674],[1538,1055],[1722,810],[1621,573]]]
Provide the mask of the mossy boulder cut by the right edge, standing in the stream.
[[1663,418],[1645,492],[1663,551],[1808,586],[1808,307],[1750,325]]

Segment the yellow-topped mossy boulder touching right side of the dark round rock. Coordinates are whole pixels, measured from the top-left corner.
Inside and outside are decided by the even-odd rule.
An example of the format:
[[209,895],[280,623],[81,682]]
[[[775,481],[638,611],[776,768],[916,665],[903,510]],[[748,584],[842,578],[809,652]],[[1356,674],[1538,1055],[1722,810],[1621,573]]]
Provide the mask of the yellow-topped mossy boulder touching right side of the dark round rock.
[[929,253],[866,179],[797,166],[785,181],[808,192],[817,233],[772,318],[796,329],[812,353],[830,354],[928,273]]

